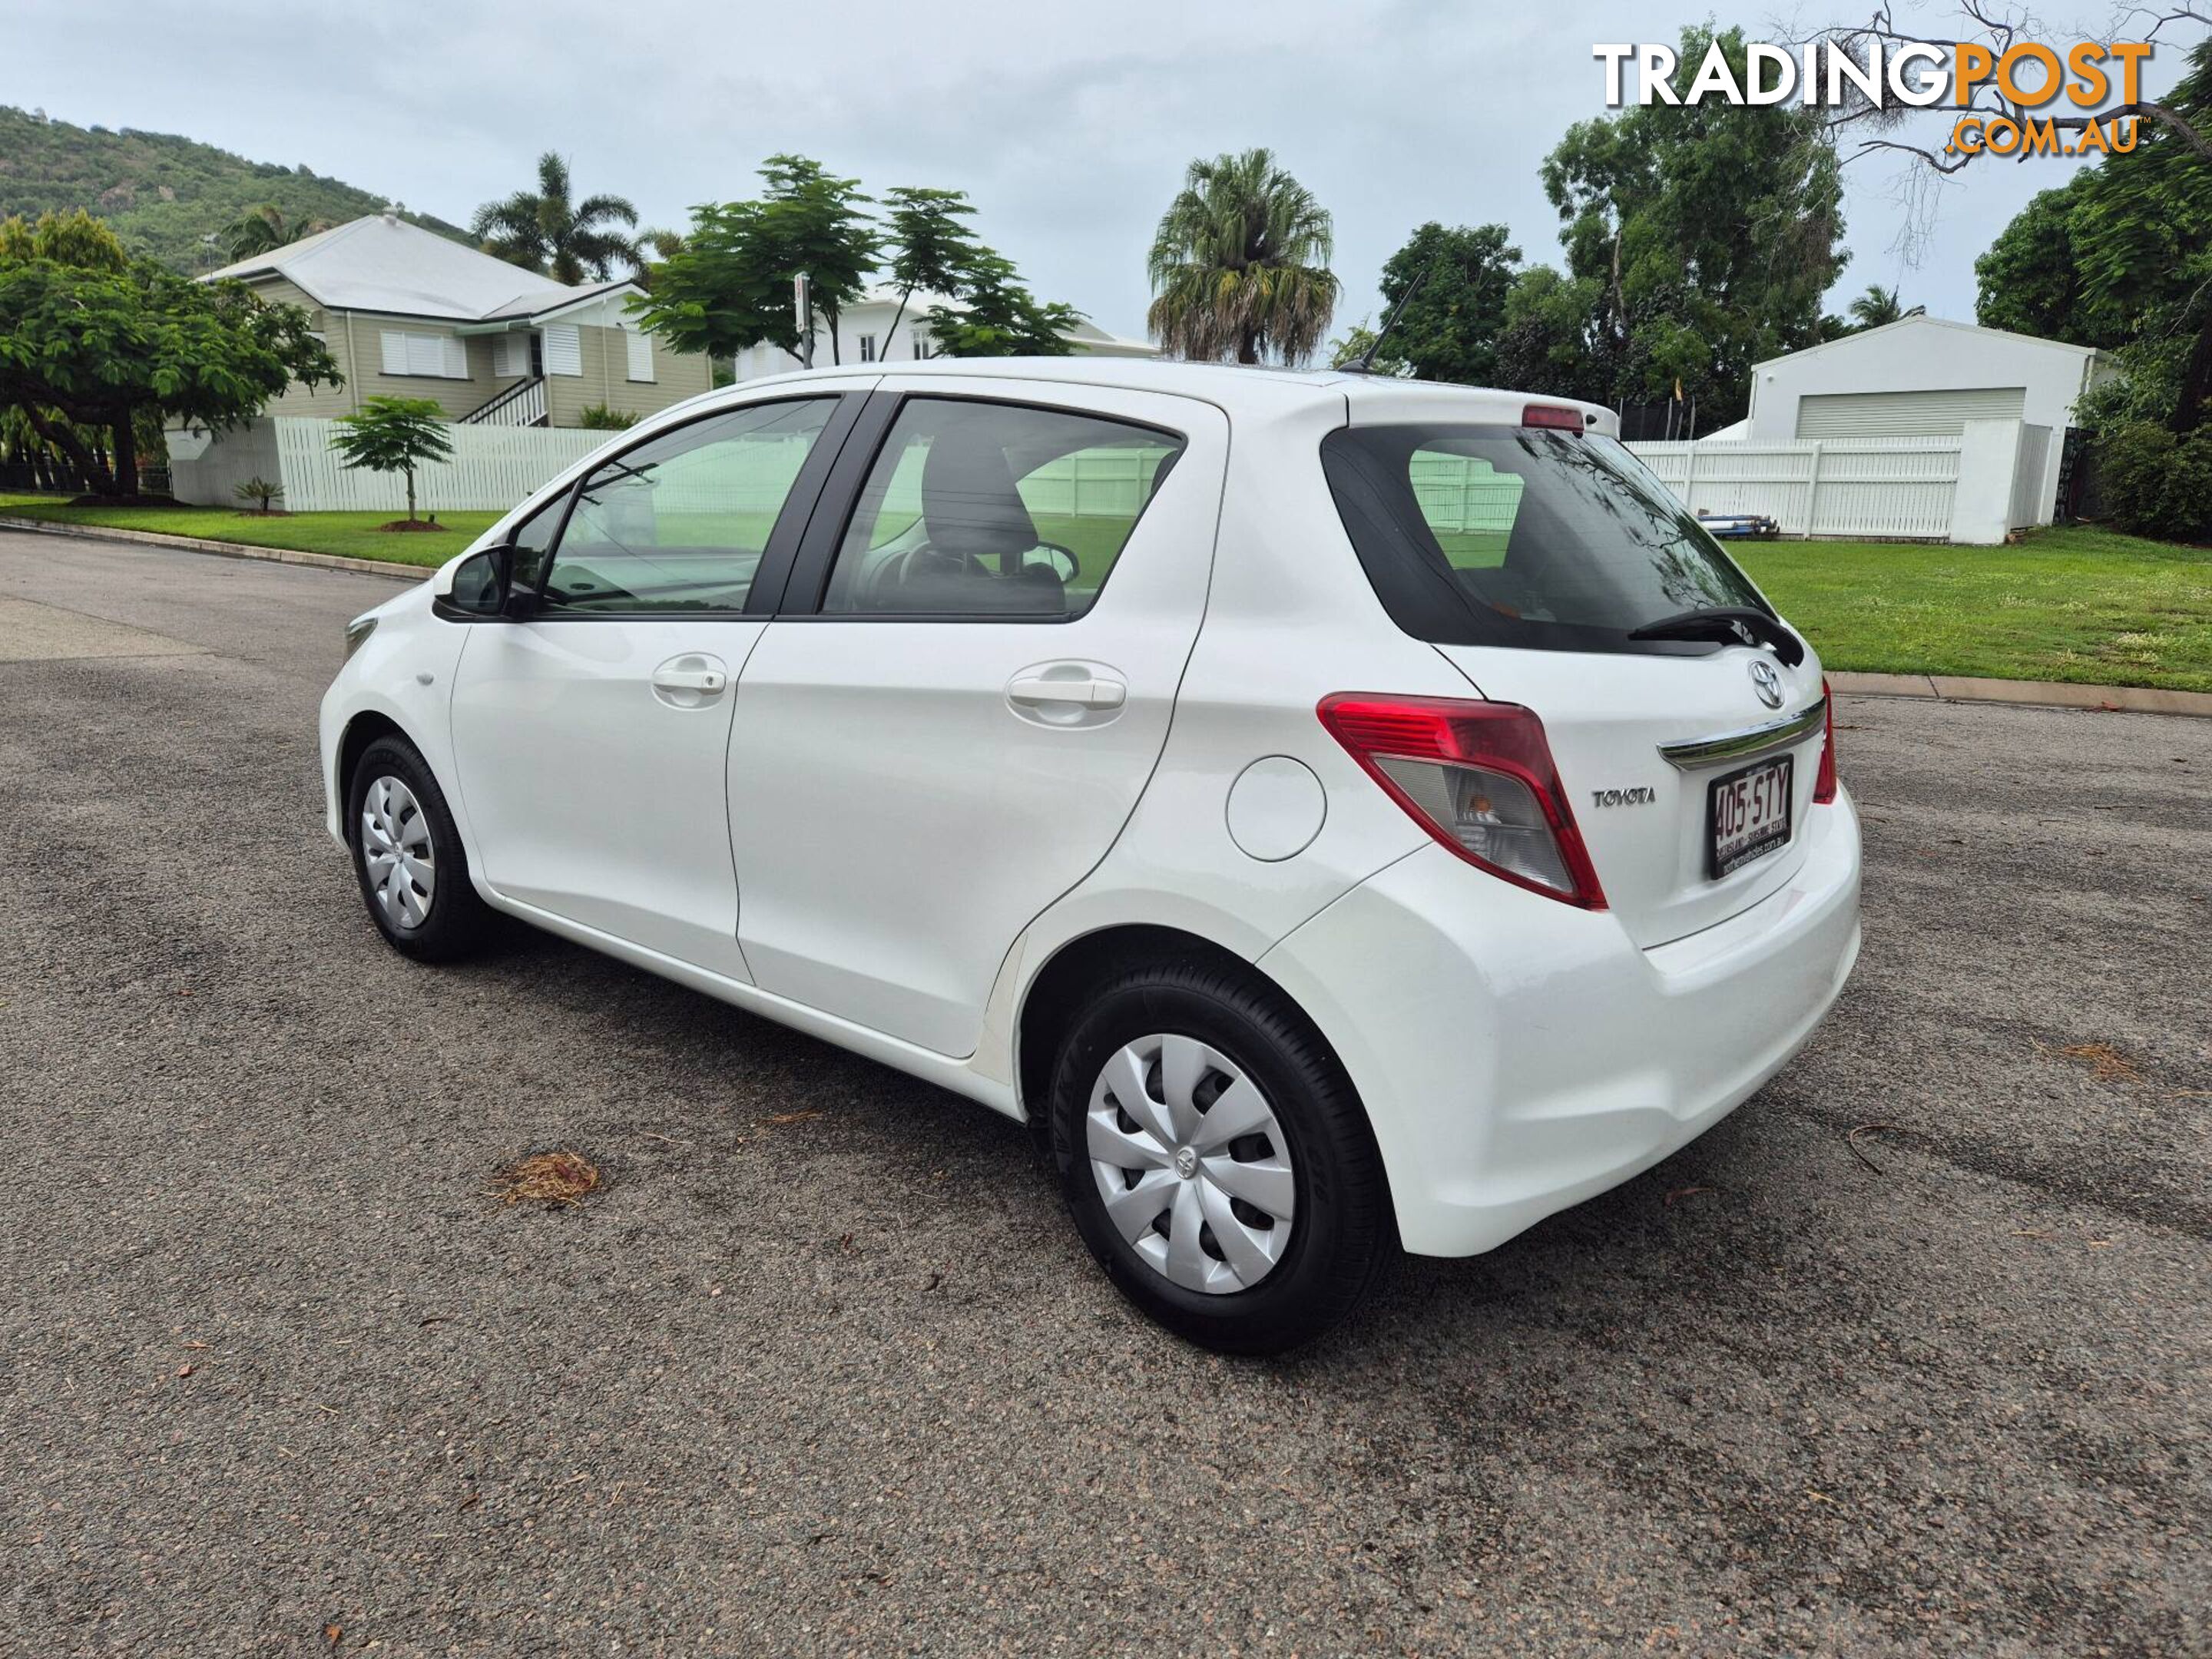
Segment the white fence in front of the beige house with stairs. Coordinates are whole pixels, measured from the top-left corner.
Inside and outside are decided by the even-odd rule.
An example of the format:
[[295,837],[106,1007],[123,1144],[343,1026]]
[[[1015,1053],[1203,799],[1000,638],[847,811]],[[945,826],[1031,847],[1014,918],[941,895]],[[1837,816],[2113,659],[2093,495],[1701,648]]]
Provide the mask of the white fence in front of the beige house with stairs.
[[[276,467],[292,513],[400,513],[400,473],[354,471],[330,447],[334,420],[276,416]],[[447,427],[453,458],[416,473],[416,507],[427,513],[500,511],[520,502],[571,462],[622,438],[619,431],[546,427]]]

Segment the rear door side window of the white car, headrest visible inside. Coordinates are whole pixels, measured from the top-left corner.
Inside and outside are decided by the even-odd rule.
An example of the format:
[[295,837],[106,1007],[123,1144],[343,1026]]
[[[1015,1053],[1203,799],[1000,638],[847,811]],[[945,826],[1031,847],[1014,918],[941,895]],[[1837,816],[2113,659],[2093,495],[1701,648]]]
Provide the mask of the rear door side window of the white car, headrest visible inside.
[[830,615],[1088,611],[1183,440],[1026,405],[909,398],[854,504]]

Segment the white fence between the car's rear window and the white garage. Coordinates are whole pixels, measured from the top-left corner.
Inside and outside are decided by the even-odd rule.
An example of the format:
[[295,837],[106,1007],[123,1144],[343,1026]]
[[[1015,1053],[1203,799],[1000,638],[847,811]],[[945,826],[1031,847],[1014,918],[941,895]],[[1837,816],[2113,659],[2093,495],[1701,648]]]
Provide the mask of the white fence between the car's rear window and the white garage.
[[[2026,449],[2026,434],[2022,447]],[[1765,513],[1783,526],[1783,535],[1940,542],[1951,533],[1958,438],[1637,442],[1628,449],[1692,513]],[[2039,473],[2039,447],[2035,460]]]

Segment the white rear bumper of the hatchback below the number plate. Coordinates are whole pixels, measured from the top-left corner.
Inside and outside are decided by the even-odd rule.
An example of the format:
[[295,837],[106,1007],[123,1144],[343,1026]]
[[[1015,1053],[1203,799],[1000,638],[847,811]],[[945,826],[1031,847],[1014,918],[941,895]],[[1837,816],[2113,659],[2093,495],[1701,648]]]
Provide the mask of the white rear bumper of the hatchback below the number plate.
[[1491,1250],[1619,1186],[1805,1046],[1858,958],[1847,794],[1805,843],[1781,891],[1655,949],[1425,847],[1261,960],[1349,1068],[1407,1250]]

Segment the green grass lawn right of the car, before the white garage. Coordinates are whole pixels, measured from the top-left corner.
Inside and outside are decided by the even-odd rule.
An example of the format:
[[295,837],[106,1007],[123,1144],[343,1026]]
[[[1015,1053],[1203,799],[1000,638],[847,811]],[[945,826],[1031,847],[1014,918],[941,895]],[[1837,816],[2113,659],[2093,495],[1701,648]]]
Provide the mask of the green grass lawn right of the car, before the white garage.
[[2020,546],[1730,542],[1829,668],[2212,692],[2212,551],[2090,526]]

